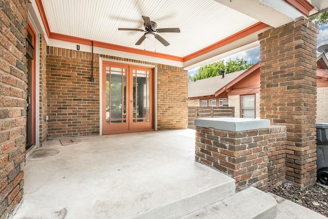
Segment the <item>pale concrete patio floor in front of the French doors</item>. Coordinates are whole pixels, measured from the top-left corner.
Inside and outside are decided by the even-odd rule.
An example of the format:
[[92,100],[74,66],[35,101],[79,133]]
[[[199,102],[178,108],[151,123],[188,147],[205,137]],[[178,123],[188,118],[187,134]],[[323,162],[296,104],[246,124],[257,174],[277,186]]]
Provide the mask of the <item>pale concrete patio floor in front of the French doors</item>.
[[232,195],[232,178],[195,162],[194,136],[172,130],[83,137],[67,146],[49,141],[26,159],[23,201],[13,218],[143,217],[183,199],[177,211],[213,204],[213,193]]

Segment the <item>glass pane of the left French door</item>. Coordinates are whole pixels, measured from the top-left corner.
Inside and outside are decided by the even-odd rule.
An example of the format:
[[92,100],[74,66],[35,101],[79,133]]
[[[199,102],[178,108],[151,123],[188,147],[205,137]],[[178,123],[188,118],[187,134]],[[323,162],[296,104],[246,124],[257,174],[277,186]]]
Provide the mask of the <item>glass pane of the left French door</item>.
[[127,69],[106,67],[106,123],[127,123]]

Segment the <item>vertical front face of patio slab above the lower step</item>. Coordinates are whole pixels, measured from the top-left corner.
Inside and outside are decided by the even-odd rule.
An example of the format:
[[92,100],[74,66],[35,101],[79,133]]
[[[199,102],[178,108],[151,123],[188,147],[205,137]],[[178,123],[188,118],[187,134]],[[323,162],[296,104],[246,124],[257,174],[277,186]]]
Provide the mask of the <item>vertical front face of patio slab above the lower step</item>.
[[[234,195],[236,186],[233,178],[219,172],[216,175],[220,175],[220,178],[216,181],[215,186],[133,215],[132,218],[179,218]],[[203,178],[203,181],[207,180],[207,178]],[[191,184],[193,182],[190,182],[190,186]]]

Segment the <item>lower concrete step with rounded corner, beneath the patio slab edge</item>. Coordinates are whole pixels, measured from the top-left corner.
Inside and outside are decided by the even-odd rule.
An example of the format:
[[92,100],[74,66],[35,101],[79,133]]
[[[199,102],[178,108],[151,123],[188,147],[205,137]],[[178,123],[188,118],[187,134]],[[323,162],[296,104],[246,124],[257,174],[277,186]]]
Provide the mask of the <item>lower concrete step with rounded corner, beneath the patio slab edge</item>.
[[266,218],[274,219],[277,202],[270,194],[250,187],[213,205],[193,212],[183,219]]

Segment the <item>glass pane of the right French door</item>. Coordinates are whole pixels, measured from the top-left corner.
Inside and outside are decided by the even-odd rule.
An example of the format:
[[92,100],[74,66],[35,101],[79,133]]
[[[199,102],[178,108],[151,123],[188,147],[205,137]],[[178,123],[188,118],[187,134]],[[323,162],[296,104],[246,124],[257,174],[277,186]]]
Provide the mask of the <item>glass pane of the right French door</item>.
[[150,122],[150,71],[133,70],[132,122]]

